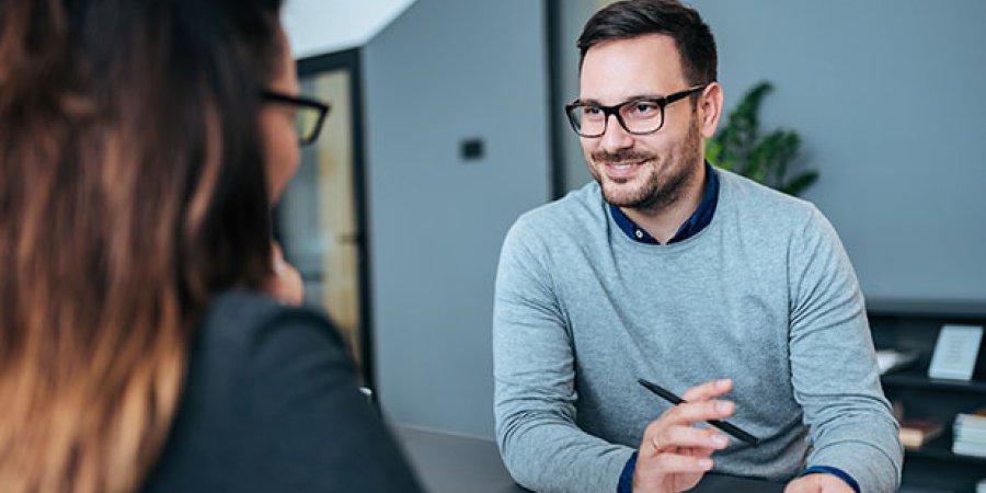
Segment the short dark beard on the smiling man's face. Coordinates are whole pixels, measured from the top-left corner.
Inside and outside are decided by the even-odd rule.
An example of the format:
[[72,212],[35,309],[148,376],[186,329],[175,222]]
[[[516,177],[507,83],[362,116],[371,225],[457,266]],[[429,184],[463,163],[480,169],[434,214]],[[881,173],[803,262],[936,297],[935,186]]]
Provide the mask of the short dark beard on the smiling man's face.
[[[679,199],[699,168],[701,160],[701,133],[696,119],[685,140],[674,145],[663,157],[633,149],[617,152],[596,151],[592,154],[589,171],[603,188],[603,198],[609,204],[629,209],[656,211],[670,207]],[[644,161],[642,169],[629,177],[607,176],[601,168],[607,162]],[[631,182],[641,182],[632,186]]]

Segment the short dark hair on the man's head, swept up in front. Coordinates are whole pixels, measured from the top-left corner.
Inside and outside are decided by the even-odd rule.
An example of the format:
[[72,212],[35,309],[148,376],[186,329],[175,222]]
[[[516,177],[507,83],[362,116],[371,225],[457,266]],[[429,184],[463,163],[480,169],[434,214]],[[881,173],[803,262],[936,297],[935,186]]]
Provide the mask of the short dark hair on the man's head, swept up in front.
[[690,84],[716,80],[715,38],[698,11],[677,0],[623,0],[596,12],[578,36],[578,67],[589,48],[610,39],[666,34],[675,39]]

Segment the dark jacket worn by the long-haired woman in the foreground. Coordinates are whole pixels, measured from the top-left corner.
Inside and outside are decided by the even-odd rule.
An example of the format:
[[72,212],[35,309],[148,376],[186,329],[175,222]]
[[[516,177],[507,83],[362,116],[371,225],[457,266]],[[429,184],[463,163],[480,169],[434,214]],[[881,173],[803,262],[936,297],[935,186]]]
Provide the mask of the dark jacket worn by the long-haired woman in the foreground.
[[419,492],[320,313],[220,296],[142,492]]

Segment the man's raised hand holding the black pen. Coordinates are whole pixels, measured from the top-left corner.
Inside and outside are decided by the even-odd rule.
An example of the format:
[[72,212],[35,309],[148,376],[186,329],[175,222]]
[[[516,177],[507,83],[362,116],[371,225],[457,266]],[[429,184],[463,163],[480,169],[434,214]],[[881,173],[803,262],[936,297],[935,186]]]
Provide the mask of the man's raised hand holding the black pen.
[[712,452],[729,445],[715,428],[691,426],[729,417],[735,411],[730,401],[713,401],[733,388],[732,380],[713,380],[688,389],[678,404],[652,421],[644,429],[633,471],[634,493],[672,493],[690,490],[712,469]]

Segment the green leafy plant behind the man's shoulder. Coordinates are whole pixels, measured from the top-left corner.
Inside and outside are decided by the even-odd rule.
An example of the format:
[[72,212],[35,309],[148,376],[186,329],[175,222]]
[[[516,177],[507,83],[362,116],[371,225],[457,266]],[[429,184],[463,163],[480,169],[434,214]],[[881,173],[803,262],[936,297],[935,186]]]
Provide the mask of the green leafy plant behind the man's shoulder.
[[796,196],[818,180],[818,172],[806,170],[788,176],[801,148],[796,131],[777,129],[760,135],[760,102],[772,89],[764,81],[743,95],[725,125],[707,142],[706,157],[719,168]]

